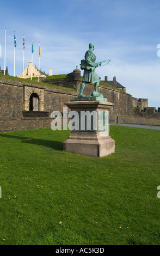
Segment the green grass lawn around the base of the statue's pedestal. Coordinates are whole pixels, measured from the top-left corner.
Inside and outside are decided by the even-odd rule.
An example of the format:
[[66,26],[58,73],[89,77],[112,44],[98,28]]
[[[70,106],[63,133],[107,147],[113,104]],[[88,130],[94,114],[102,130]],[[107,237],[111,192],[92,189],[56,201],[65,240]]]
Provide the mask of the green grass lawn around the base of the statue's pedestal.
[[110,125],[99,159],[64,152],[69,133],[0,133],[0,245],[160,245],[160,132]]

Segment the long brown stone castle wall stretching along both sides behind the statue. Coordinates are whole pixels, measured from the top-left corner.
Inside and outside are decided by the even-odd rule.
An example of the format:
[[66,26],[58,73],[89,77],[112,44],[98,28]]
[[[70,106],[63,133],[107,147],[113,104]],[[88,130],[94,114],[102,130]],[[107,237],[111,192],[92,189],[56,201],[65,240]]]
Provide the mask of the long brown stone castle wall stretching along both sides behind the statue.
[[[0,77],[0,131],[49,127],[52,121],[51,113],[63,113],[65,102],[79,94],[82,78],[73,74],[68,79],[50,82],[57,83],[57,88],[52,84],[48,86],[44,83],[36,84]],[[87,84],[83,93],[89,96],[93,90],[94,84]],[[105,83],[100,83],[99,92],[108,99],[108,102],[114,103],[110,110],[110,123],[148,121],[150,124],[160,124],[160,108],[156,111],[155,108],[147,107],[147,99],[136,99],[124,90]],[[29,97],[32,93],[39,96],[39,111],[36,112],[29,111]]]

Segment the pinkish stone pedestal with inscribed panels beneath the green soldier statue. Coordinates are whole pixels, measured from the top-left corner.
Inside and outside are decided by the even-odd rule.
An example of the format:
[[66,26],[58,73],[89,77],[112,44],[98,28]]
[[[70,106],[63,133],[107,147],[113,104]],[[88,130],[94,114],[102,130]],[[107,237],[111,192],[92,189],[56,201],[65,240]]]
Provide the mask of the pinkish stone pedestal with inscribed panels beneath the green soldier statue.
[[[109,108],[113,103],[87,98],[89,97],[82,101],[72,100],[65,103],[71,112],[76,111],[79,114],[79,129],[71,130],[71,135],[63,144],[63,150],[91,157],[110,155],[115,152],[115,141],[109,136]],[[91,119],[91,129],[87,127],[87,117],[84,118],[83,115],[82,120],[81,114],[89,112],[94,112],[96,116],[94,125]]]

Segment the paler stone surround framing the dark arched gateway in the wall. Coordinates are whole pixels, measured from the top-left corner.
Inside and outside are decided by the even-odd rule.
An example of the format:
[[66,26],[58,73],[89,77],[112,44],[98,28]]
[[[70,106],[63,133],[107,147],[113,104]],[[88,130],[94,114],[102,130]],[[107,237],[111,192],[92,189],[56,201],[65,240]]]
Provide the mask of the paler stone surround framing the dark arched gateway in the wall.
[[44,89],[24,86],[24,110],[29,111],[29,99],[30,95],[33,93],[38,94],[39,96],[39,111],[44,111]]

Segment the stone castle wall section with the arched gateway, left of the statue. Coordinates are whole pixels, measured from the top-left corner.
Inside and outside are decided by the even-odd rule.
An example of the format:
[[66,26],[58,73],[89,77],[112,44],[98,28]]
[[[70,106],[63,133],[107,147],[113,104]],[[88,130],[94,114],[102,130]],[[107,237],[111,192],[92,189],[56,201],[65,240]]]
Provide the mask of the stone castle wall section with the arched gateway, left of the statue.
[[[30,112],[29,95],[40,97],[41,111]],[[0,77],[0,132],[50,127],[53,111],[63,112],[77,92]]]

